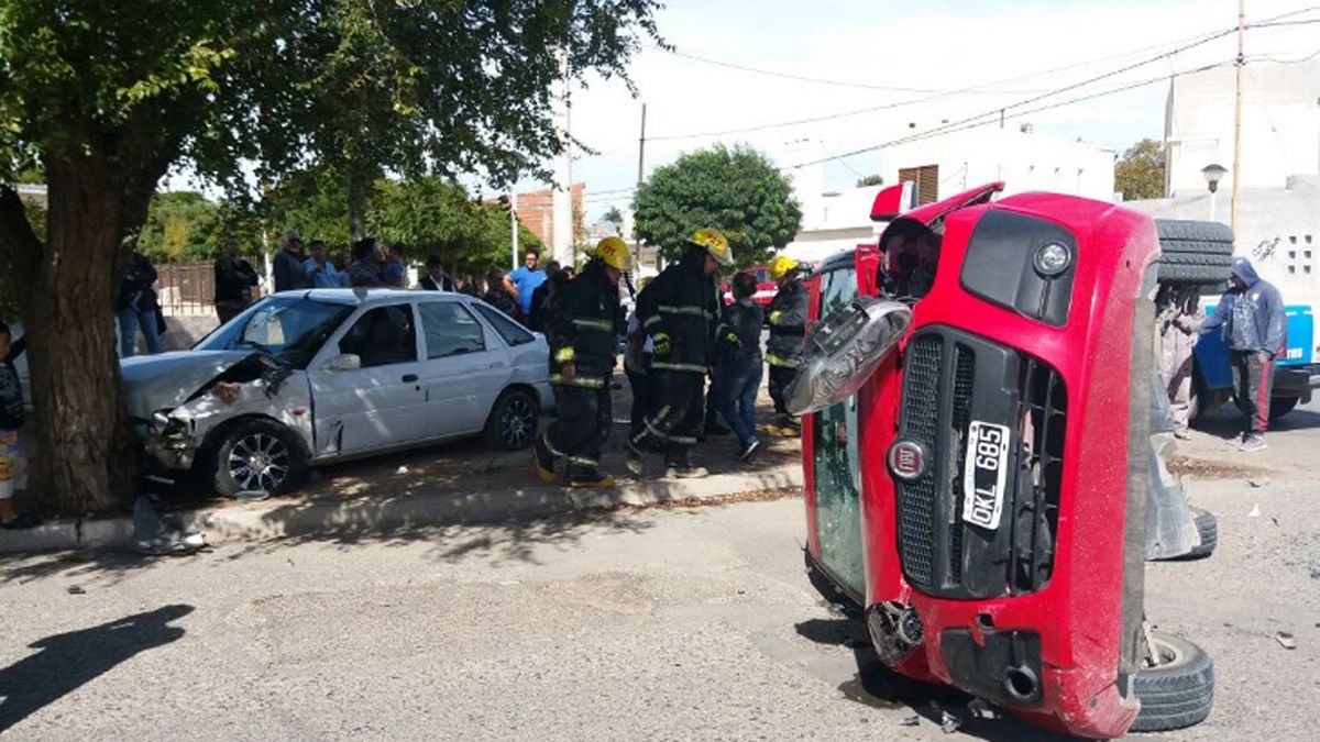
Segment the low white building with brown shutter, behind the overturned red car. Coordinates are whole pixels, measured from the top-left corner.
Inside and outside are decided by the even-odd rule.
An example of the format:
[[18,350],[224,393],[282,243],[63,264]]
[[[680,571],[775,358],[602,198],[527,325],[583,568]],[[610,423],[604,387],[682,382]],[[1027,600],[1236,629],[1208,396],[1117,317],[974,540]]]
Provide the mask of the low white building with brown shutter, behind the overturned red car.
[[[886,148],[886,185],[915,181],[917,203],[931,203],[993,181],[1005,194],[1048,190],[1101,201],[1114,198],[1114,152],[1024,129],[969,129]],[[859,243],[875,242],[884,224],[870,220],[883,186],[820,193],[813,173],[793,176],[803,227],[784,252],[818,261]],[[812,190],[817,189],[817,190]]]

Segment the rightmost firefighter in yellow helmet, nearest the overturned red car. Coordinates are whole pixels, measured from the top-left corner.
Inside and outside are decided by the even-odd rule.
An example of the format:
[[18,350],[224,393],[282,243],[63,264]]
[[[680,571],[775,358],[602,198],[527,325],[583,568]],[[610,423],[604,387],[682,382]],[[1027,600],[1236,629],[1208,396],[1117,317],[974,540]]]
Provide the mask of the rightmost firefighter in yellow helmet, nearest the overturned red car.
[[803,337],[807,334],[807,287],[799,277],[799,264],[787,255],[770,261],[770,280],[779,292],[770,302],[770,339],[766,341],[766,363],[770,366],[770,399],[775,400],[772,434],[797,437],[801,422],[788,412],[787,392],[793,374],[803,362]]

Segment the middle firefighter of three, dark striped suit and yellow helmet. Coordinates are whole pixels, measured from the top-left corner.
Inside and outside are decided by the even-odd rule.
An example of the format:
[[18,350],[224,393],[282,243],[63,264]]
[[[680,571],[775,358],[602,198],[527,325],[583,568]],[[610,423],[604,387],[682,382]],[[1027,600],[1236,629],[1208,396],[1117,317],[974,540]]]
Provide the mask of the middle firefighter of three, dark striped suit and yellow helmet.
[[642,452],[664,448],[671,479],[705,477],[693,466],[692,446],[701,432],[702,391],[710,366],[719,313],[715,271],[734,261],[729,240],[715,230],[698,230],[675,265],[656,276],[638,296],[638,318],[651,335],[651,370],[656,375],[656,411],[628,438],[628,469],[642,474]]

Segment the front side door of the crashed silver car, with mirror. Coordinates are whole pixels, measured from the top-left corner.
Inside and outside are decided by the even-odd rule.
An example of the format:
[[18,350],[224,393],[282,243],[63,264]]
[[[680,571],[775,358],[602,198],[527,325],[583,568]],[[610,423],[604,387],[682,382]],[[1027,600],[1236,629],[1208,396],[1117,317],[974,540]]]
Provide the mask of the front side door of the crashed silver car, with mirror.
[[[418,362],[417,318],[408,301],[374,306],[331,337],[309,368],[318,453],[360,453],[426,436],[426,393]],[[335,355],[360,366],[335,371]]]

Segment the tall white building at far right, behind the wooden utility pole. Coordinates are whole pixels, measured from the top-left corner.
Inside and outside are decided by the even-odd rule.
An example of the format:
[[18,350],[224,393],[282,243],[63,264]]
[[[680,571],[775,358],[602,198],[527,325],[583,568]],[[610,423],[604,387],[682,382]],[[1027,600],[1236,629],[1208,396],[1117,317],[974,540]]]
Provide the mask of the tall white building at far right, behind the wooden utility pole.
[[1164,137],[1166,193],[1205,193],[1201,169],[1228,168],[1220,193],[1242,187],[1280,189],[1290,176],[1320,173],[1320,58],[1309,62],[1251,62],[1242,69],[1242,166],[1233,162],[1233,67],[1173,78]]

